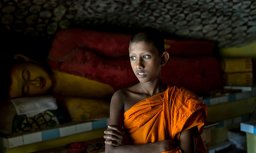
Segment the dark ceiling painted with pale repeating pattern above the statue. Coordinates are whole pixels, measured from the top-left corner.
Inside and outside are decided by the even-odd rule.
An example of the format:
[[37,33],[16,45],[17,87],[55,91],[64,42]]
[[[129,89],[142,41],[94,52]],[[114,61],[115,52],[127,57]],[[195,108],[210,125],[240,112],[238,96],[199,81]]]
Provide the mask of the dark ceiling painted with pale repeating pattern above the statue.
[[4,0],[1,31],[54,38],[69,27],[129,30],[152,26],[187,39],[240,47],[256,40],[256,1],[240,0]]

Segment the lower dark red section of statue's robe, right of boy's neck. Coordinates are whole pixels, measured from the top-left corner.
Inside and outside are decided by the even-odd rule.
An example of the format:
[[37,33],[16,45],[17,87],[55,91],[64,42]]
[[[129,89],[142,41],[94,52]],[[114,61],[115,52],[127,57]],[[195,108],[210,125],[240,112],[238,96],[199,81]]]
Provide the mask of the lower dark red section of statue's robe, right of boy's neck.
[[214,57],[170,57],[162,67],[162,81],[195,93],[221,89],[218,60]]

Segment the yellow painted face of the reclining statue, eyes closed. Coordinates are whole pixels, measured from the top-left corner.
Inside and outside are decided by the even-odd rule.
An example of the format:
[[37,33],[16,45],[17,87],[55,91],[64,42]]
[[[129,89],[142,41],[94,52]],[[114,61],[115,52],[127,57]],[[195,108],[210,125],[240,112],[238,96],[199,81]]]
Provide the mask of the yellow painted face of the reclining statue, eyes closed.
[[18,64],[11,69],[10,98],[39,96],[47,93],[51,86],[49,74],[36,64]]

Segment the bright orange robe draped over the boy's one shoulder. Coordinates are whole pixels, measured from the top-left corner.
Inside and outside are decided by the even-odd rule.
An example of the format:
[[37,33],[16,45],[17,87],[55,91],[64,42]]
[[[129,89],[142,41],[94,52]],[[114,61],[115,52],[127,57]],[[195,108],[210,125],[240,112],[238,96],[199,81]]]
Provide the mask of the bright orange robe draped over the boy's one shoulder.
[[[166,91],[144,99],[124,113],[123,128],[133,144],[162,140],[179,141],[180,132],[197,126],[196,152],[205,152],[201,138],[207,107],[191,91],[169,87]],[[181,153],[179,147],[166,153]]]

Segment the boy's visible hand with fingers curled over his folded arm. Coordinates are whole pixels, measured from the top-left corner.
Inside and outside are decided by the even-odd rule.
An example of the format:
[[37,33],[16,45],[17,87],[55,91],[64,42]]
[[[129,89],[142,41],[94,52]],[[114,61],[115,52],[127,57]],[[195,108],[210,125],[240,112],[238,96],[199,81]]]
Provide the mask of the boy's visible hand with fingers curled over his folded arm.
[[113,146],[132,144],[127,135],[122,130],[119,130],[117,126],[109,125],[108,128],[111,130],[104,131],[106,134],[104,138],[110,139],[105,141],[106,144]]

